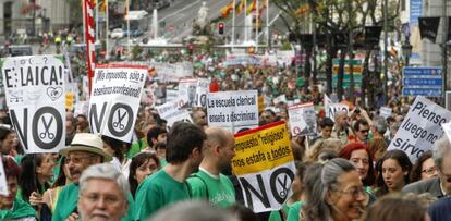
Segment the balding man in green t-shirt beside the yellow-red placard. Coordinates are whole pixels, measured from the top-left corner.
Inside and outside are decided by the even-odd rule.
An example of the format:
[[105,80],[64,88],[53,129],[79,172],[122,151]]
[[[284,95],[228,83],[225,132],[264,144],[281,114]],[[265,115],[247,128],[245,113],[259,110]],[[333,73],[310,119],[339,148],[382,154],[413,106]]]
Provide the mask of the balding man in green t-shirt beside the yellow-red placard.
[[235,189],[229,177],[221,173],[231,167],[235,156],[233,134],[220,127],[208,127],[205,133],[204,159],[199,172],[192,175],[187,183],[194,198],[205,198],[212,204],[227,208],[235,202]]

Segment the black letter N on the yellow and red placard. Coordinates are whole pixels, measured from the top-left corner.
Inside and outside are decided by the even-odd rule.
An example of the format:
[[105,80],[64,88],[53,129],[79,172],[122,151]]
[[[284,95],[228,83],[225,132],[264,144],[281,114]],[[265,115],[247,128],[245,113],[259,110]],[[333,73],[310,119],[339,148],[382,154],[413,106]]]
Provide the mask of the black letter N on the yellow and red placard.
[[265,183],[263,181],[261,174],[257,174],[256,177],[258,182],[258,191],[254,188],[254,186],[249,184],[249,182],[247,182],[246,179],[240,177],[241,187],[244,189],[247,206],[251,209],[254,208],[254,202],[252,201],[252,196],[251,196],[251,192],[252,192],[252,194],[254,194],[261,201],[265,208],[269,208],[271,205],[269,204],[269,198],[265,189]]

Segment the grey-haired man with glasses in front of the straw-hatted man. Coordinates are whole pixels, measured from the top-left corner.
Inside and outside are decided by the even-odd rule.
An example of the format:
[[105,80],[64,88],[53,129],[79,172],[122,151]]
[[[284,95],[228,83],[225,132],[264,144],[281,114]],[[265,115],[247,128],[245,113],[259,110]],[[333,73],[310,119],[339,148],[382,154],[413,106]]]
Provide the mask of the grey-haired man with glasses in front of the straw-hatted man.
[[95,164],[80,179],[78,214],[72,218],[120,221],[129,210],[127,180],[111,163]]

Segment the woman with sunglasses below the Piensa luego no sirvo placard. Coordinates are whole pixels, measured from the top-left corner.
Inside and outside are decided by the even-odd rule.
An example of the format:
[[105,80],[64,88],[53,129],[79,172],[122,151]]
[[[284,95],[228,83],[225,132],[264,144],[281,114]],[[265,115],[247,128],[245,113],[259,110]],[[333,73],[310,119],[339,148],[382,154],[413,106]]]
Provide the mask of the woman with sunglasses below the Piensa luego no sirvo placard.
[[432,151],[428,150],[424,152],[412,167],[411,171],[411,183],[417,181],[425,181],[437,177],[437,168],[434,162]]

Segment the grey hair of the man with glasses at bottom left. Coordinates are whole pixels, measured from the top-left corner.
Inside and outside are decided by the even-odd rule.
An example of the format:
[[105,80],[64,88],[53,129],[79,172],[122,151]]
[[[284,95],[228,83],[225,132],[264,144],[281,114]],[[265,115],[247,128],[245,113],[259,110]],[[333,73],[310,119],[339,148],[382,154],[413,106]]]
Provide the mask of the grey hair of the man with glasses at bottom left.
[[126,200],[129,198],[129,182],[111,163],[94,164],[83,171],[80,177],[80,193],[87,187],[87,181],[90,179],[102,179],[114,182],[121,188],[124,199]]

